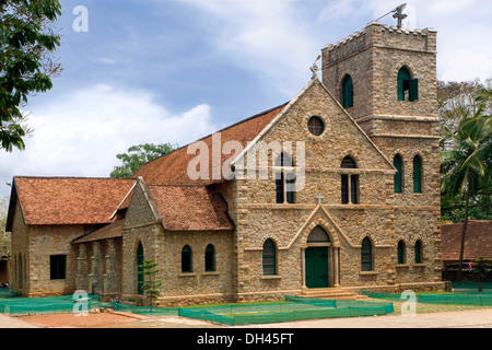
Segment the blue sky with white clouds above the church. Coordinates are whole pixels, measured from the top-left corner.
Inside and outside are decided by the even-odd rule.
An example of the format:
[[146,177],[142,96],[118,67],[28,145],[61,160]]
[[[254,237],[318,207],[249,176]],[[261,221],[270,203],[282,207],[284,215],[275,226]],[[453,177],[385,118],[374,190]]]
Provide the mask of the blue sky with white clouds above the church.
[[[60,0],[63,66],[24,107],[25,151],[0,150],[0,198],[14,175],[107,177],[141,143],[185,145],[281,105],[327,44],[401,0]],[[437,78],[492,78],[492,1],[407,1],[403,26],[437,31]],[[387,15],[383,24],[395,25]]]

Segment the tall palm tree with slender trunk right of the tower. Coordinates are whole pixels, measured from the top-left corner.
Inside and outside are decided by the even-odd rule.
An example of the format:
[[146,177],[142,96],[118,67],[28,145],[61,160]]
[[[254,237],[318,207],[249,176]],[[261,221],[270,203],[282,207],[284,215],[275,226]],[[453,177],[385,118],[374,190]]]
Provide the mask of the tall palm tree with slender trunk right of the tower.
[[461,109],[462,118],[455,132],[444,130],[453,140],[453,148],[441,152],[441,192],[459,197],[465,202],[465,218],[461,232],[458,280],[465,252],[470,198],[487,191],[491,186],[492,119],[484,115],[485,105],[473,113]]

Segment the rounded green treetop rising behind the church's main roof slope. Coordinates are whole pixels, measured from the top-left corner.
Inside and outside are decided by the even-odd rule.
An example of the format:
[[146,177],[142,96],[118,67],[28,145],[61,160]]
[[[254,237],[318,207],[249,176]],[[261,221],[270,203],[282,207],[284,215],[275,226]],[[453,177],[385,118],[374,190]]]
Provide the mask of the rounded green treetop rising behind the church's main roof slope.
[[128,153],[116,155],[122,162],[122,165],[115,166],[115,170],[110,173],[110,177],[131,177],[143,164],[173,152],[177,147],[177,144],[173,145],[171,143],[132,145],[128,149]]

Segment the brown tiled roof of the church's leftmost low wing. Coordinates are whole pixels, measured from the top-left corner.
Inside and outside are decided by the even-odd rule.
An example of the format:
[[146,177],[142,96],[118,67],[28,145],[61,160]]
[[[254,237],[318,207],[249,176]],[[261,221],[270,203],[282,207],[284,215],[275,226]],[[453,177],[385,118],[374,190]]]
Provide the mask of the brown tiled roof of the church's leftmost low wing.
[[95,224],[109,218],[134,179],[14,177],[26,224]]

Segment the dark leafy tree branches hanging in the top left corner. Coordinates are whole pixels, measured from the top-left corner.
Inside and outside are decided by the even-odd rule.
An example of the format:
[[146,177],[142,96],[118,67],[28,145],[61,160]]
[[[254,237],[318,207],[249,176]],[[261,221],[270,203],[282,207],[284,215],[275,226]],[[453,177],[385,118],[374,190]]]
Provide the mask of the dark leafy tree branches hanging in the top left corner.
[[27,96],[52,88],[61,72],[52,54],[60,45],[52,23],[61,14],[58,0],[0,0],[0,148],[25,149],[32,132],[21,107]]

